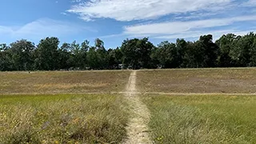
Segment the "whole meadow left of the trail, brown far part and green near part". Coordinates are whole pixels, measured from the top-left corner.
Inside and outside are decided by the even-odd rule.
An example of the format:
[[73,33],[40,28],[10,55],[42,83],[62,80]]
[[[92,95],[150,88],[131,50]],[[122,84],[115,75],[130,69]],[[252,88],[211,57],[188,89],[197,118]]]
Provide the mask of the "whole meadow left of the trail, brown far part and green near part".
[[130,71],[0,73],[0,143],[118,143]]

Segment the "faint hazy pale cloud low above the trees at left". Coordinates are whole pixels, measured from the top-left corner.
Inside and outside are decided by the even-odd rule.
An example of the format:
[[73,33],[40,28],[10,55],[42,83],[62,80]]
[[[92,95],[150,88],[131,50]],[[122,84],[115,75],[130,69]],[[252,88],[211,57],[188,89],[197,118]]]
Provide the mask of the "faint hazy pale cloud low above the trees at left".
[[0,26],[0,35],[10,38],[29,38],[38,40],[40,38],[56,36],[65,37],[77,34],[89,28],[78,26],[70,22],[55,21],[49,18],[38,19],[24,26]]

